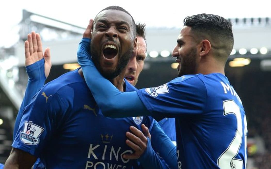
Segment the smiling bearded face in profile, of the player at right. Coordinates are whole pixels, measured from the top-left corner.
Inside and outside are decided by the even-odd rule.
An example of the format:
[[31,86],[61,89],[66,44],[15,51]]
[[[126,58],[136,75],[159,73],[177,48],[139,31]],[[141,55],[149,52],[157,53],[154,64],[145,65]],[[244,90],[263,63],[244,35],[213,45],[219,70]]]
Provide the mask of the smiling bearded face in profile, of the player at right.
[[177,39],[177,45],[173,49],[172,56],[179,63],[178,77],[183,75],[194,75],[198,67],[197,43],[191,33],[191,28],[184,26]]

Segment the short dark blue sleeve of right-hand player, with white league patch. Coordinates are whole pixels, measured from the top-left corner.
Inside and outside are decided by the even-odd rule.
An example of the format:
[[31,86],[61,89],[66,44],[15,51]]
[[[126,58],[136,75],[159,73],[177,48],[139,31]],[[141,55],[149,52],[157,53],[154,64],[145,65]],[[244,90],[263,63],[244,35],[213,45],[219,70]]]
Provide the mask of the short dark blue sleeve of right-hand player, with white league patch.
[[157,121],[164,117],[201,114],[207,90],[196,75],[182,80],[178,77],[164,85],[137,90],[138,96]]

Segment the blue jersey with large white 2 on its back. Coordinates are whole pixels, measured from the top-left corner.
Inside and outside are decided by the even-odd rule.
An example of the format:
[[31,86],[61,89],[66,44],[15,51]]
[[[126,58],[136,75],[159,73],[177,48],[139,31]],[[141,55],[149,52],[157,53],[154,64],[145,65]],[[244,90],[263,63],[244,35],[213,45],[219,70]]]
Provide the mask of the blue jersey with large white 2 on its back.
[[137,92],[156,119],[175,117],[178,168],[245,168],[246,116],[227,77],[185,75]]

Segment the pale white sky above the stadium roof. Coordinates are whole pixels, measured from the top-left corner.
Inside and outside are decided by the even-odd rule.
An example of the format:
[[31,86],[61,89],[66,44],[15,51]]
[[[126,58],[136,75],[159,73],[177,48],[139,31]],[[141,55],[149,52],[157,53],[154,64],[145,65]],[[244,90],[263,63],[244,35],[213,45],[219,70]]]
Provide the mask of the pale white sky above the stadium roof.
[[270,5],[266,0],[99,0],[99,1],[57,1],[24,0],[3,1],[0,6],[0,47],[9,47],[18,39],[17,24],[22,19],[22,9],[54,18],[60,21],[85,27],[90,18],[101,9],[119,5],[134,17],[136,22],[146,23],[147,27],[182,27],[186,16],[198,13],[213,13],[225,18],[271,17]]

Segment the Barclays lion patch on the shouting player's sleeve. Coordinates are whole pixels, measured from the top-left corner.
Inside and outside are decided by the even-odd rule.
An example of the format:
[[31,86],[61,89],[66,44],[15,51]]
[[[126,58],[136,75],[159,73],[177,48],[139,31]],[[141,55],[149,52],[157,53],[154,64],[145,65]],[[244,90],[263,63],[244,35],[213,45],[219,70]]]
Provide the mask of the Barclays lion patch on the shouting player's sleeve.
[[32,123],[32,121],[24,122],[24,131],[20,132],[20,139],[24,144],[38,144],[39,136],[43,132],[43,128]]

